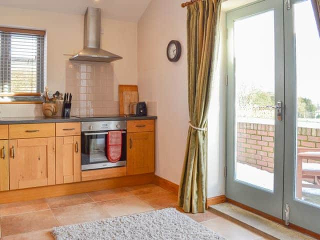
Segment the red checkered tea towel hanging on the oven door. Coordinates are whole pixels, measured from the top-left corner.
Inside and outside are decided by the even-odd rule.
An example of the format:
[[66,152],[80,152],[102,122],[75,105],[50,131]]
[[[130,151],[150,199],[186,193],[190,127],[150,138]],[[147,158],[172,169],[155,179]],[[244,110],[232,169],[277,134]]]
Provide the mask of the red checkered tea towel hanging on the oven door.
[[121,158],[122,131],[109,131],[107,134],[107,158],[117,162]]

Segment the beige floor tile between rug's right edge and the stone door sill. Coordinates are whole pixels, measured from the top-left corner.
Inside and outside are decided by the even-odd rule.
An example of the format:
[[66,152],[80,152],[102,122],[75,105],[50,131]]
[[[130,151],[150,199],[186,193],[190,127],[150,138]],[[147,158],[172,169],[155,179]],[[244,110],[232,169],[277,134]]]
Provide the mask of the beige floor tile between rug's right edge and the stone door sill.
[[256,240],[261,238],[260,235],[222,217],[203,221],[201,224],[224,236],[228,240]]

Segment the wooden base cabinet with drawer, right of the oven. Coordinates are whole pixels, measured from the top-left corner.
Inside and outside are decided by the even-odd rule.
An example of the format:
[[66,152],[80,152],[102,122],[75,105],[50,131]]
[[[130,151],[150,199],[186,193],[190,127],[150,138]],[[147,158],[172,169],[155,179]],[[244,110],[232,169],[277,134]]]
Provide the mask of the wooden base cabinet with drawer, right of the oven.
[[128,121],[127,132],[127,174],[154,172],[154,121]]

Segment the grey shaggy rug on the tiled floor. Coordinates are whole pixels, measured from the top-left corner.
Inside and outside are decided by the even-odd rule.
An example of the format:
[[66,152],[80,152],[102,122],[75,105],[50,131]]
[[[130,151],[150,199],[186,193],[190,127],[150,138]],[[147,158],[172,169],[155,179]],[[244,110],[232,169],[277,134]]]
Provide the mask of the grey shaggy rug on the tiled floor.
[[54,227],[56,240],[226,240],[174,208]]

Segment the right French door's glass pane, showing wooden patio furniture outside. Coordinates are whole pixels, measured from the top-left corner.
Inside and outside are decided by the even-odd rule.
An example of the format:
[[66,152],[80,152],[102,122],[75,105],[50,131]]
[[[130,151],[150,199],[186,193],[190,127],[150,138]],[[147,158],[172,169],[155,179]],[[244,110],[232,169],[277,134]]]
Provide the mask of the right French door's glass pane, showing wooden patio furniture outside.
[[311,1],[295,3],[296,198],[320,206],[320,38]]

